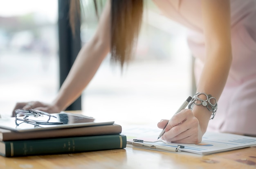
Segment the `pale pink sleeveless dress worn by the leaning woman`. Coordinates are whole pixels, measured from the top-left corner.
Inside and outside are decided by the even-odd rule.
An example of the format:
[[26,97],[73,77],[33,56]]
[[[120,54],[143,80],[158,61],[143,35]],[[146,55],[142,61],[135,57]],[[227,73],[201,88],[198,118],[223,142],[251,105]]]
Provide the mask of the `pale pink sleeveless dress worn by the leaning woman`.
[[[200,0],[153,1],[166,17],[189,29],[187,39],[198,82],[205,57]],[[256,135],[256,0],[230,2],[233,60],[208,131]]]

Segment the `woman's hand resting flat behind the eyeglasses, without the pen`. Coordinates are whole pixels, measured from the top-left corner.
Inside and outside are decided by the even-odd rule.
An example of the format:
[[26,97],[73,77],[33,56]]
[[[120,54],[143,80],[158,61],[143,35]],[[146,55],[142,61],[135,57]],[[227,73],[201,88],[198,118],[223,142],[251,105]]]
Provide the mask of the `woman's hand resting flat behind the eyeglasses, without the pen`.
[[54,105],[43,103],[43,102],[18,102],[16,103],[13,112],[12,112],[12,117],[15,115],[15,110],[16,109],[34,109],[34,110],[40,110],[44,111],[47,113],[59,113],[61,110]]

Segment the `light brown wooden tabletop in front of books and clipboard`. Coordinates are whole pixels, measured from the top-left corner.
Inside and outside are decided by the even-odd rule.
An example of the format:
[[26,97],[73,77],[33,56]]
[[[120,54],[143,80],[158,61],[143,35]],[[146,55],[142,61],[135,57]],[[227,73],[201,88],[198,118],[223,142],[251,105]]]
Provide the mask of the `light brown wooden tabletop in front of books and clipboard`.
[[[78,112],[75,112],[78,113]],[[4,158],[0,169],[252,169],[256,147],[208,156],[134,148],[84,153]]]

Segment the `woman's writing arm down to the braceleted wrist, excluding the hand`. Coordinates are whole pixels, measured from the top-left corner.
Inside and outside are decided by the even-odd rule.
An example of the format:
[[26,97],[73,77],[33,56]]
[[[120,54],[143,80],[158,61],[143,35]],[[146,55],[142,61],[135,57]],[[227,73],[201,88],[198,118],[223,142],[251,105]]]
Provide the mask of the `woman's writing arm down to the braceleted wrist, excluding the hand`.
[[[197,92],[211,94],[218,101],[232,61],[229,0],[202,0],[202,18],[206,58]],[[211,112],[206,107],[195,106],[193,114],[198,118],[204,133]]]

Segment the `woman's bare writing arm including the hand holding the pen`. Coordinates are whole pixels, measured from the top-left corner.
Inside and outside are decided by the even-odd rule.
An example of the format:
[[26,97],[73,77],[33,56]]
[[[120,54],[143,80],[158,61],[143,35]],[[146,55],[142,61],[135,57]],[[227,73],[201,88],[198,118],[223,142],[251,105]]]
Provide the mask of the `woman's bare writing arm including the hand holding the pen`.
[[[210,94],[218,101],[225,87],[232,61],[230,2],[229,0],[201,2],[206,57],[197,92]],[[201,142],[211,113],[202,105],[195,105],[192,111],[189,109],[181,111],[170,120],[162,138],[180,143]],[[159,122],[158,127],[164,128],[166,122],[166,120]]]

